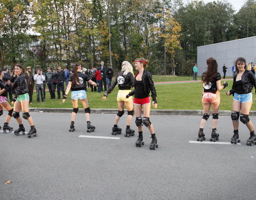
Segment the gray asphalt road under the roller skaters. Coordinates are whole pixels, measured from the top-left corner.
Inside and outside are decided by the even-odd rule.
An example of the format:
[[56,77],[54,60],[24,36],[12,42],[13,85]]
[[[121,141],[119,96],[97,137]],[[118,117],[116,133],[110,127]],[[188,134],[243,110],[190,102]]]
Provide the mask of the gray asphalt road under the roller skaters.
[[[1,117],[1,125],[4,122]],[[0,199],[255,199],[256,146],[247,146],[249,131],[239,129],[241,145],[196,141],[201,116],[151,116],[159,148],[150,150],[135,137],[111,135],[114,114],[92,114],[95,132],[86,132],[85,116],[77,114],[69,132],[70,114],[30,113],[37,138],[0,133]],[[125,129],[125,117],[119,127]],[[251,117],[256,125],[256,117]],[[135,130],[135,116],[132,128]],[[23,121],[26,131],[28,122]],[[14,119],[10,125],[18,128]],[[211,118],[206,124],[206,140]],[[230,116],[220,116],[220,142],[233,135]],[[81,138],[79,135],[119,137]],[[5,180],[12,183],[5,185]]]

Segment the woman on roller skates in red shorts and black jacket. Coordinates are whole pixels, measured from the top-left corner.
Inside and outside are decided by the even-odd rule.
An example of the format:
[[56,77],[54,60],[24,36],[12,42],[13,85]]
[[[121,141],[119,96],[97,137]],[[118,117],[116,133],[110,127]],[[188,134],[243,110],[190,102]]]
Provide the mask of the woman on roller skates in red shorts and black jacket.
[[[135,142],[135,145],[137,147],[141,147],[143,145],[142,140],[142,126],[145,125],[150,134],[152,139],[154,139],[153,146],[150,146],[150,149],[155,149],[156,147],[156,133],[153,124],[150,122],[149,116],[150,116],[150,109],[151,109],[151,103],[150,103],[150,97],[149,93],[151,92],[152,97],[152,105],[154,108],[157,108],[157,101],[156,101],[156,88],[154,85],[154,81],[152,78],[152,75],[149,73],[149,71],[146,70],[148,67],[149,61],[145,58],[139,58],[136,59],[133,62],[133,65],[135,69],[138,71],[135,75],[134,79],[134,89],[132,92],[130,92],[126,98],[129,98],[130,96],[134,95],[134,110],[135,110],[135,124],[138,127],[139,137],[138,140]],[[143,117],[142,115],[142,109],[143,109]]]

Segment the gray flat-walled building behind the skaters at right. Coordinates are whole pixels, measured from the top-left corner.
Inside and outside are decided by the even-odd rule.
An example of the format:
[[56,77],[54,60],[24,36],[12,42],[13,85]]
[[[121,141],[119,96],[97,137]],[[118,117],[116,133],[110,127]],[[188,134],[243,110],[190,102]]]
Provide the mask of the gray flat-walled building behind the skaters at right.
[[226,76],[232,76],[232,66],[238,57],[243,57],[246,62],[256,63],[256,36],[234,41],[221,42],[197,47],[198,76],[206,70],[206,60],[213,57],[218,62],[218,71],[223,77],[222,66],[226,64]]

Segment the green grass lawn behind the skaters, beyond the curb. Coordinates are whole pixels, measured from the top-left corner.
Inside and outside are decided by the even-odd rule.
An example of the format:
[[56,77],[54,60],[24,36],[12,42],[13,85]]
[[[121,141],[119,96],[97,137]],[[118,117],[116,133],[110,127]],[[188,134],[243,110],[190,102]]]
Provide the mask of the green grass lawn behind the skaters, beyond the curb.
[[[171,81],[191,81],[191,77],[173,77],[173,76],[153,76],[154,82],[171,82]],[[228,77],[230,78],[230,77]],[[223,83],[223,81],[221,81]],[[220,110],[231,110],[233,96],[227,96],[226,92],[231,89],[233,81],[227,81],[228,87],[220,91],[221,104]],[[202,109],[202,83],[189,82],[189,83],[172,83],[172,84],[156,84],[157,91],[157,109],[181,109],[181,110],[197,110]],[[117,108],[116,96],[118,87],[108,95],[107,100],[102,100],[103,92],[91,92],[89,89],[87,99],[89,100],[90,108]],[[55,92],[57,96],[57,92]],[[36,102],[36,93],[33,95],[33,108],[72,108],[69,92],[68,98],[65,103],[59,99],[50,99],[50,93],[46,91],[45,102]],[[253,90],[253,101],[256,102],[256,95]],[[82,108],[82,103],[79,103],[79,108]],[[255,110],[253,104],[251,110]],[[152,108],[154,109],[154,108]]]

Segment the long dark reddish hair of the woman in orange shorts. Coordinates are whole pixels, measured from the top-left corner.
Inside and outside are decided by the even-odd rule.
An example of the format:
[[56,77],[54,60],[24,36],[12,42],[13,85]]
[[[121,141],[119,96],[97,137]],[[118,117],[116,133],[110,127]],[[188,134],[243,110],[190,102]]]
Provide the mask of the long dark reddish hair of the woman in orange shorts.
[[218,73],[218,63],[214,58],[207,59],[206,63],[207,71],[203,73],[202,81],[209,84]]

